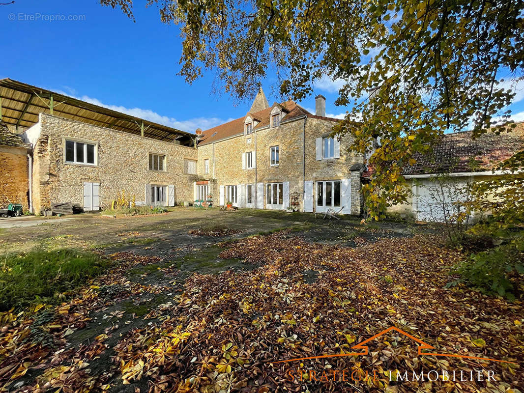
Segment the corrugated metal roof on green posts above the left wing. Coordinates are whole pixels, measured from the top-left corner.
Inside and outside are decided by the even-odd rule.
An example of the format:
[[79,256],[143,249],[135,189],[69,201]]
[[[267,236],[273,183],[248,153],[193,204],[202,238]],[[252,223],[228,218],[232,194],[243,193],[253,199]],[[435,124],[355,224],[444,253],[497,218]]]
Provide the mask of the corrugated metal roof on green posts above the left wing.
[[8,78],[0,79],[0,97],[2,98],[2,121],[18,127],[31,127],[38,123],[40,113],[49,114],[52,97],[53,115],[55,116],[136,135],[141,135],[143,122],[144,136],[163,141],[173,141],[177,138],[183,145],[191,145],[191,138],[194,137],[193,134],[176,128]]

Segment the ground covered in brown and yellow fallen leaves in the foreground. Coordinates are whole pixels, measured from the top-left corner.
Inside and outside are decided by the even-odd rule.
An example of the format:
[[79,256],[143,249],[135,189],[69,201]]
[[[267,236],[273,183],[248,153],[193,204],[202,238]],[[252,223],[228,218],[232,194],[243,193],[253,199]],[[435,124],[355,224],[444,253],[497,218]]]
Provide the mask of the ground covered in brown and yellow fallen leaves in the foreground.
[[[115,268],[71,301],[3,314],[3,390],[518,392],[524,386],[522,302],[444,289],[449,266],[462,256],[430,236],[350,248],[283,231],[222,247],[220,258],[240,258],[254,269],[182,280],[159,258],[117,253]],[[397,333],[369,343],[365,356],[272,363],[352,352],[390,326],[439,353],[514,363],[420,356],[416,343]],[[484,376],[492,370],[496,381],[389,377],[433,369]],[[346,380],[336,370],[348,370]]]

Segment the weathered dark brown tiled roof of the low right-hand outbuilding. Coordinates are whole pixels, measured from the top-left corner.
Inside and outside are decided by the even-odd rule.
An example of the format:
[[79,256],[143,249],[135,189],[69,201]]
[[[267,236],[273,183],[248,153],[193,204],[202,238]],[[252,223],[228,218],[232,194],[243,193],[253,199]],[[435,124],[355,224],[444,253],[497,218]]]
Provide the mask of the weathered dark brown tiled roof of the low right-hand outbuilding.
[[[471,131],[444,134],[440,142],[427,154],[416,153],[417,162],[406,166],[403,175],[430,173],[484,172],[494,169],[519,151],[524,150],[524,122],[518,123],[511,132],[493,132],[472,139]],[[373,173],[368,167],[362,173],[367,178]]]

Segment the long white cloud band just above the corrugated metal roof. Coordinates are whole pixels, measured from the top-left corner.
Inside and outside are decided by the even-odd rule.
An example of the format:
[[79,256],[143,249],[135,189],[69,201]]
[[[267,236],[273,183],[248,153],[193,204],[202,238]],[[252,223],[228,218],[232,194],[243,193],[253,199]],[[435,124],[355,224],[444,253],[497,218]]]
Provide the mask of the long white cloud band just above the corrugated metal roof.
[[174,117],[160,115],[157,112],[154,112],[150,109],[142,109],[137,107],[126,108],[125,106],[107,105],[101,102],[100,100],[91,98],[87,95],[82,95],[78,97],[72,95],[71,93],[66,93],[63,91],[59,91],[58,93],[68,95],[77,100],[89,102],[94,105],[103,106],[104,108],[108,108],[113,111],[122,112],[131,116],[139,117],[144,120],[149,120],[150,122],[155,122],[168,127],[173,127],[183,131],[187,131],[189,133],[194,133],[196,128],[202,128],[203,130],[206,130],[233,120],[233,118],[222,119],[219,117],[192,117],[189,119],[177,119]]

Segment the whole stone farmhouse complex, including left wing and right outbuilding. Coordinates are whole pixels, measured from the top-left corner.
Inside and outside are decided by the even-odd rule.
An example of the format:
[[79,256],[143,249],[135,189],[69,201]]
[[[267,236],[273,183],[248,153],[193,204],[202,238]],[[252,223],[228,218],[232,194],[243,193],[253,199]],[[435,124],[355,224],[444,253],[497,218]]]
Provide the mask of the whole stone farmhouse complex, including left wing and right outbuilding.
[[[3,79],[0,121],[0,205],[22,203],[37,214],[69,202],[99,211],[125,191],[137,205],[211,194],[215,205],[360,215],[361,185],[373,172],[349,149],[350,136],[331,136],[339,120],[325,116],[322,95],[312,114],[293,101],[270,106],[260,90],[245,116],[192,134]],[[443,171],[457,181],[500,176],[491,168],[524,149],[522,125],[476,141],[444,135],[431,157],[406,169],[413,197],[391,212],[428,220],[428,190]],[[471,160],[476,169],[466,166]]]

